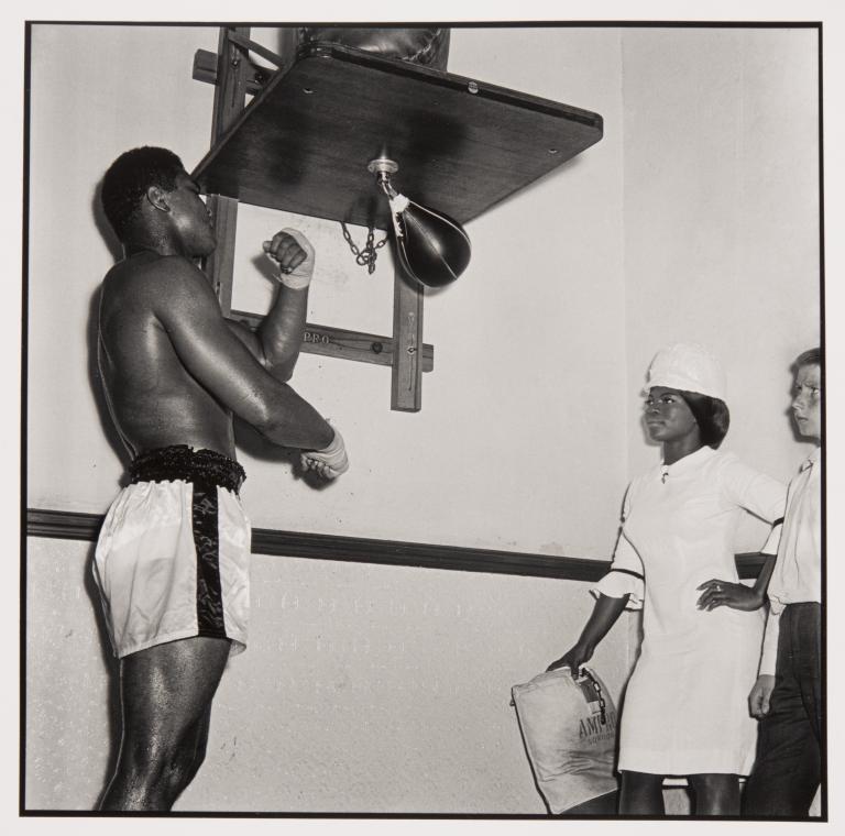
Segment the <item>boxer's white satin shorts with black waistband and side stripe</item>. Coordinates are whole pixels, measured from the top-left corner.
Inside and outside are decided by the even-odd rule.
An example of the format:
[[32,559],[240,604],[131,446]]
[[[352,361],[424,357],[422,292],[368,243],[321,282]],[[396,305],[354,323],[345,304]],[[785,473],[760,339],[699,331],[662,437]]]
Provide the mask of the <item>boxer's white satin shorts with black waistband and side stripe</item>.
[[246,648],[250,521],[238,462],[186,446],[130,465],[131,484],[109,508],[94,576],[114,653],[194,636]]

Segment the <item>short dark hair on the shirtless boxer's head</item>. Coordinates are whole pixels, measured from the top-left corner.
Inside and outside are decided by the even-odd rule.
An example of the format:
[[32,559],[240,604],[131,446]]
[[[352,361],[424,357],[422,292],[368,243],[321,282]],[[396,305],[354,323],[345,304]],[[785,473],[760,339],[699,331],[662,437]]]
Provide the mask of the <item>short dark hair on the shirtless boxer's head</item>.
[[146,190],[158,186],[165,191],[176,188],[176,177],[184,172],[182,161],[167,148],[144,145],[121,154],[102,178],[102,210],[114,234],[125,242],[132,219]]

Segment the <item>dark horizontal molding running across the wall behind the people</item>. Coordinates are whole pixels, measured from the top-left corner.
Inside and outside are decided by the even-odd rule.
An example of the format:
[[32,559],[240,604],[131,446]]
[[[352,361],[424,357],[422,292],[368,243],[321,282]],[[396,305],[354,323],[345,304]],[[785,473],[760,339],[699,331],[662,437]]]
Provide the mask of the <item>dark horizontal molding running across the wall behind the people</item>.
[[[102,519],[101,514],[29,508],[26,536],[92,542],[97,539]],[[468,549],[400,540],[282,531],[273,528],[253,528],[252,551],[255,554],[287,558],[557,578],[567,581],[597,581],[610,566],[610,560],[593,558]],[[764,560],[765,558],[757,553],[737,554],[739,576],[756,578]]]

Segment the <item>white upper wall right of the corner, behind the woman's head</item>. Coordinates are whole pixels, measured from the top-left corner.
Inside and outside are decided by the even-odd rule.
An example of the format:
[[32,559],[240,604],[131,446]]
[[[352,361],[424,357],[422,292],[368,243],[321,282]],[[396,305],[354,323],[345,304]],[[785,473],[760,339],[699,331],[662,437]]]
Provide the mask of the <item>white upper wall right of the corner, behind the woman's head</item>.
[[636,420],[646,369],[660,345],[683,340],[725,366],[724,449],[783,480],[808,454],[787,409],[790,365],[820,336],[816,37],[623,36],[632,473],[658,457]]

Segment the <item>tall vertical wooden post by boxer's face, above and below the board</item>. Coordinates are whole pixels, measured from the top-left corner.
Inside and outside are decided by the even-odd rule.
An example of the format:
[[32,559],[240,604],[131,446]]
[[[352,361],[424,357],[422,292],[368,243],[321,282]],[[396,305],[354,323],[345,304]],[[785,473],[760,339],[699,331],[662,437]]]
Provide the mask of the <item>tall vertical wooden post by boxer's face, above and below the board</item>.
[[[237,26],[235,32],[250,36],[249,26]],[[211,145],[220,139],[245,107],[246,82],[253,67],[248,53],[229,40],[229,30],[220,28],[218,43],[215,110],[211,122]],[[215,288],[223,316],[232,308],[234,270],[234,241],[238,231],[238,201],[222,195],[209,195],[208,208],[215,219],[217,249],[206,258],[206,275]]]

